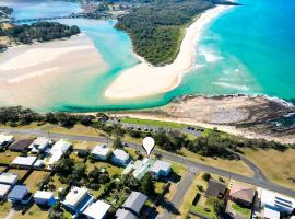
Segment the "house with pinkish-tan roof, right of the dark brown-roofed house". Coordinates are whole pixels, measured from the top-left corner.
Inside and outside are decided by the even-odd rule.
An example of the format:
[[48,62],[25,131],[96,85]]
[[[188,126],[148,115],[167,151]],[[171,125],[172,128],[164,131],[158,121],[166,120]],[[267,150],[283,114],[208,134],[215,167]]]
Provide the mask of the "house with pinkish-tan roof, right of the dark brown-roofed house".
[[231,181],[229,199],[245,207],[250,207],[253,203],[256,188],[250,185]]

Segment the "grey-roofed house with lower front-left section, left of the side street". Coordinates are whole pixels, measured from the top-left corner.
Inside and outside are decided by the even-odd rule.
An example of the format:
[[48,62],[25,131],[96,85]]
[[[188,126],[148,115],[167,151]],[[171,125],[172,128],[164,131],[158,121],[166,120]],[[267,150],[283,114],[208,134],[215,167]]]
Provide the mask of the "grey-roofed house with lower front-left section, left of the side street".
[[[148,196],[139,192],[132,192],[121,208],[116,211],[118,219],[137,218],[140,215],[140,210],[144,203],[148,200]],[[129,212],[128,212],[129,211]]]

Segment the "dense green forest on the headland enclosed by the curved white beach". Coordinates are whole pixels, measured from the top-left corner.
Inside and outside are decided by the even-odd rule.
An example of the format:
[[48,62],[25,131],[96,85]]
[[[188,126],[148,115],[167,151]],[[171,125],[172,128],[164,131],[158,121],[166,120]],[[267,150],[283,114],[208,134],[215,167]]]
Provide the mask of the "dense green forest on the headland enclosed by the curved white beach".
[[119,16],[116,27],[130,34],[138,55],[163,66],[176,58],[185,26],[212,7],[206,0],[154,1]]

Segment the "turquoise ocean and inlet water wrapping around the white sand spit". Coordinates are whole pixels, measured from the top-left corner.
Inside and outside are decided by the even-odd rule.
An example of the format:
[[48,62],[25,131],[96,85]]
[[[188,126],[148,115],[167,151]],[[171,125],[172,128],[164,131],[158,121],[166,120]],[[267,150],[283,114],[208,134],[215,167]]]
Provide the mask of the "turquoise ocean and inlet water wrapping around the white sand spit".
[[[194,69],[175,90],[133,101],[111,101],[104,91],[125,69],[138,64],[127,34],[114,28],[115,21],[62,20],[76,24],[95,43],[108,70],[67,92],[68,81],[55,85],[55,102],[40,111],[95,111],[142,108],[164,105],[186,94],[267,94],[295,99],[295,0],[239,0],[208,25],[196,44]],[[66,15],[80,5],[51,0],[0,0],[14,8],[17,19]],[[64,87],[66,85],[66,87]],[[78,95],[79,94],[79,95]],[[67,101],[64,101],[67,100]]]

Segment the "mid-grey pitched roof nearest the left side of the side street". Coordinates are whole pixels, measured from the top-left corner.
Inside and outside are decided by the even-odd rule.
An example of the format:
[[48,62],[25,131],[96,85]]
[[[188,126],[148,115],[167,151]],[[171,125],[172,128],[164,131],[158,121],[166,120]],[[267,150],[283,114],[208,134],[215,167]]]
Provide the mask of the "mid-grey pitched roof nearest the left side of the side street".
[[139,214],[146,199],[146,195],[139,192],[132,192],[123,203],[122,207]]

